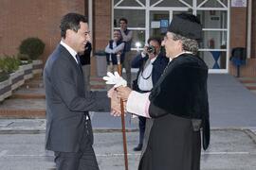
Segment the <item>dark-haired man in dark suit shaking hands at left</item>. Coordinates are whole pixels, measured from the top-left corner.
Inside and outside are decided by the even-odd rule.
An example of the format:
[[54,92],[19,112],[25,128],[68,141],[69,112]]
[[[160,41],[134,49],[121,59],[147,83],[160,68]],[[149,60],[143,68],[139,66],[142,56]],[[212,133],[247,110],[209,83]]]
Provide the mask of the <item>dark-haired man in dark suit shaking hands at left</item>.
[[46,149],[54,151],[58,170],[98,170],[92,147],[89,110],[110,110],[106,93],[84,89],[78,53],[89,40],[87,20],[77,13],[64,15],[62,41],[44,69],[46,85]]

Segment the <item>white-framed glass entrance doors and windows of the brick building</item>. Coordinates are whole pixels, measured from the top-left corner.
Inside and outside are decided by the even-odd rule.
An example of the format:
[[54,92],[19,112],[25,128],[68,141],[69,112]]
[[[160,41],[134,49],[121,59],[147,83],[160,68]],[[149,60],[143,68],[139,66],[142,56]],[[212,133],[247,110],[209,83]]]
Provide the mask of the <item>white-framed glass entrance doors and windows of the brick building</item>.
[[[134,31],[132,49],[142,50],[151,36],[162,37],[173,16],[180,12],[197,15],[203,26],[199,57],[210,73],[229,72],[230,0],[112,0],[113,29],[120,17]],[[139,45],[137,45],[139,44]]]

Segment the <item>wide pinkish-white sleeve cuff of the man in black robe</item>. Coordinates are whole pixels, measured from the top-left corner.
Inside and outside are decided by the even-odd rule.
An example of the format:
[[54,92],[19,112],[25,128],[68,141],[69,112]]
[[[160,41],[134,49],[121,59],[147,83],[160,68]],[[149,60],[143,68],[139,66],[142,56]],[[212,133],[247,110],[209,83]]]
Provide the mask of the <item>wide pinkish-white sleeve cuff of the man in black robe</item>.
[[128,97],[126,110],[135,113],[139,116],[149,117],[149,94],[150,93],[137,93],[132,91]]

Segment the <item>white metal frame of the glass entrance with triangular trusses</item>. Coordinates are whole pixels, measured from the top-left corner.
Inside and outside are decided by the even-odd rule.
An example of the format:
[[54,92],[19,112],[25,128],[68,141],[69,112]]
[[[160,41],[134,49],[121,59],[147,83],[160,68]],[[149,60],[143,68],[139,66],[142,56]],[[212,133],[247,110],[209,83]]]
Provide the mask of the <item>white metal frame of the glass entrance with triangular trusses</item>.
[[[124,6],[119,6],[124,0],[119,0],[119,2],[115,5],[114,0],[112,0],[112,30],[114,28],[119,28],[119,27],[114,27],[114,9],[142,9],[145,10],[145,27],[129,27],[131,30],[145,30],[145,42],[149,39],[150,36],[150,11],[154,10],[164,10],[164,11],[169,11],[169,18],[170,21],[173,18],[173,13],[174,11],[188,11],[189,8],[192,8],[192,14],[196,15],[197,10],[226,10],[227,11],[227,28],[203,28],[203,31],[226,31],[227,32],[227,47],[226,49],[220,49],[220,48],[215,48],[215,49],[210,49],[210,48],[201,48],[198,51],[224,51],[226,52],[226,69],[209,69],[210,73],[218,73],[218,74],[227,74],[229,73],[229,33],[230,33],[230,0],[227,0],[227,6],[221,2],[221,0],[216,0],[223,8],[205,8],[204,5],[210,1],[210,0],[204,0],[200,4],[197,4],[197,0],[192,0],[192,5],[186,3],[183,0],[178,0],[179,2],[183,3],[187,7],[157,7],[158,4],[160,4],[163,1],[169,1],[169,0],[159,0],[155,2],[155,4],[150,5],[150,0],[145,0],[145,4],[140,2],[139,0],[135,0],[138,4],[137,7],[124,7]],[[113,32],[113,31],[112,31]],[[111,35],[112,35],[111,32]],[[113,35],[112,35],[113,36]],[[142,49],[142,48],[140,48]],[[132,48],[132,50],[137,50],[137,48]]]

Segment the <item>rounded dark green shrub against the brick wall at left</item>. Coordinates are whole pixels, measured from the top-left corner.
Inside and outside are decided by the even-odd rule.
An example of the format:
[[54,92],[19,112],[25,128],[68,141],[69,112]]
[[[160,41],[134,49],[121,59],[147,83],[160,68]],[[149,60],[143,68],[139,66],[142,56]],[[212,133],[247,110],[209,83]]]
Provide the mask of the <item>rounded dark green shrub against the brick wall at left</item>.
[[19,46],[20,54],[27,54],[29,59],[38,59],[45,50],[45,43],[38,38],[27,38]]

